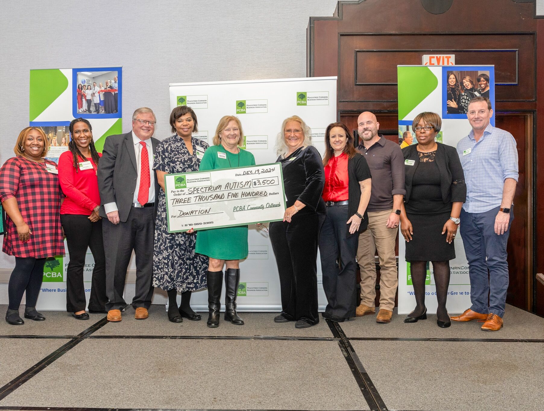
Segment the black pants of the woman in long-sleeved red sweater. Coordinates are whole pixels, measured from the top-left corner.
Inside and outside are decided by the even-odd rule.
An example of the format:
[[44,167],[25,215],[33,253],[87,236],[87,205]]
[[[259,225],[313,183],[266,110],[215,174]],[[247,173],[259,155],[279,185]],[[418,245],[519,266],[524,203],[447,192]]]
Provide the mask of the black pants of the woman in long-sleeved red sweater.
[[82,214],[61,214],[60,222],[66,234],[70,254],[70,262],[66,269],[66,311],[77,313],[85,310],[83,271],[87,247],[91,249],[92,257],[95,259],[89,310],[103,311],[108,298],[106,297],[106,257],[104,257],[102,242],[102,222],[91,222],[88,216]]

